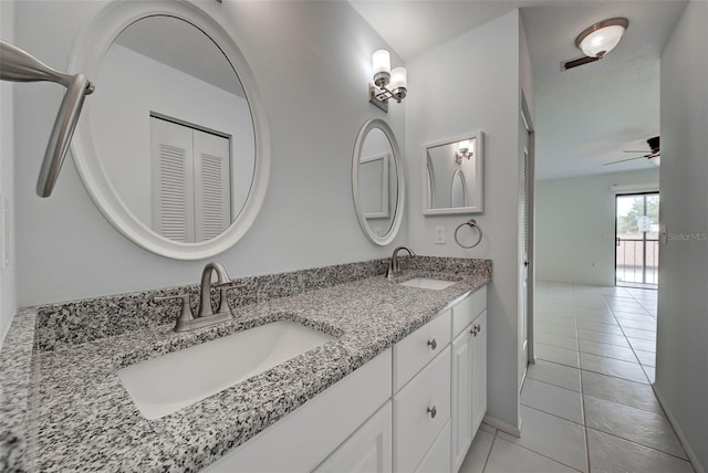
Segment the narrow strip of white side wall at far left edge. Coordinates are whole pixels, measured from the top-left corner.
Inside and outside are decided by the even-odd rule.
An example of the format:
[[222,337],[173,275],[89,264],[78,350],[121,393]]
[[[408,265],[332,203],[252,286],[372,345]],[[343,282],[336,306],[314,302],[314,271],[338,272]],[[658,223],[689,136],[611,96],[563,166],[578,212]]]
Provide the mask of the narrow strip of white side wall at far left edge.
[[[14,3],[0,1],[0,39],[9,43],[14,41]],[[11,211],[9,222],[9,265],[0,271],[0,348],[8,333],[17,304],[17,264],[14,261],[14,128],[13,128],[13,88],[11,82],[0,82],[0,192],[8,199]],[[46,137],[49,138],[49,136]],[[46,141],[44,141],[46,144]],[[2,204],[2,202],[0,202]],[[1,214],[1,212],[0,212]],[[0,225],[1,228],[2,225]],[[3,236],[0,235],[0,242]],[[0,262],[0,265],[2,263]]]

